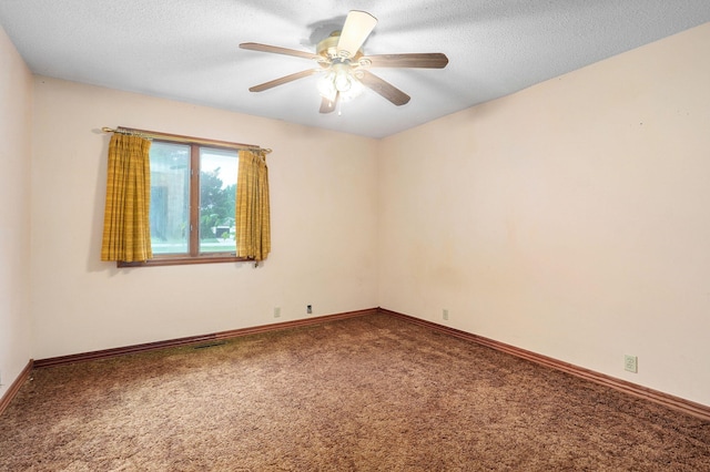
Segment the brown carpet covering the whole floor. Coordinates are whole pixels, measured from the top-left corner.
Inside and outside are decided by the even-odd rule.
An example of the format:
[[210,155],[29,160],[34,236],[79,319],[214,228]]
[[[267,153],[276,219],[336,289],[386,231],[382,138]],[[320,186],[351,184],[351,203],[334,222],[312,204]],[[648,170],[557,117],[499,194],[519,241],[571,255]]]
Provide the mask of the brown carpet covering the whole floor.
[[709,471],[710,422],[387,315],[38,369],[1,471]]

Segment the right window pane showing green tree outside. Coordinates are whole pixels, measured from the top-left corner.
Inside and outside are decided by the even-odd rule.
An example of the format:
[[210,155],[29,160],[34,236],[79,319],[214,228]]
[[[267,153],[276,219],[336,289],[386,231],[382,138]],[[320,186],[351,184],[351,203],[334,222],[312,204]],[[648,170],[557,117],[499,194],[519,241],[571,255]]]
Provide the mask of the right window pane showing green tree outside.
[[239,156],[200,148],[200,253],[235,253],[234,201]]

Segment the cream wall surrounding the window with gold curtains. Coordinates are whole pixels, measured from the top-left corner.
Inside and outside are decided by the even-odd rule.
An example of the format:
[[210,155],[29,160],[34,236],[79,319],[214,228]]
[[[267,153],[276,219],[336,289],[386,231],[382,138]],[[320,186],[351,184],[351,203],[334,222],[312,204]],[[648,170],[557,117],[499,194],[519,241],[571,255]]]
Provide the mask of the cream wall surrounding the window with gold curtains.
[[[42,76],[33,122],[36,359],[377,306],[376,141]],[[263,266],[101,263],[119,125],[273,148]]]

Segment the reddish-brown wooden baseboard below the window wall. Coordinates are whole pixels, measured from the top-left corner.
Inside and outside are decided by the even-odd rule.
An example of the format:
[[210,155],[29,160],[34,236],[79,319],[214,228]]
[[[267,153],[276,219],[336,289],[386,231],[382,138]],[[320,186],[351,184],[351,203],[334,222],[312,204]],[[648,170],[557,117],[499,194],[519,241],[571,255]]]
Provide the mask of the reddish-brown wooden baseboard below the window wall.
[[193,345],[200,345],[203,342],[214,342],[214,341],[221,341],[221,340],[226,340],[231,338],[237,338],[240,336],[255,335],[258,332],[267,332],[267,331],[280,331],[283,329],[293,329],[293,328],[300,328],[304,326],[320,325],[323,322],[335,321],[338,319],[347,319],[347,318],[355,318],[355,317],[365,316],[365,315],[374,315],[376,312],[377,312],[377,308],[369,308],[369,309],[358,310],[358,311],[346,311],[346,312],[336,314],[336,315],[326,315],[326,316],[314,317],[314,318],[296,319],[293,321],[276,322],[272,325],[255,326],[252,328],[233,329],[230,331],[213,332],[210,335],[190,336],[186,338],[168,339],[164,341],[146,342],[142,345],[125,346],[121,348],[103,349],[99,351],[81,352],[81,353],[69,355],[69,356],[59,356],[59,357],[52,357],[47,359],[38,359],[34,361],[34,368],[41,369],[44,367],[61,366],[61,365],[73,363],[73,362],[84,362],[88,360],[97,360],[97,359],[104,359],[104,358],[110,358],[115,356],[125,356],[130,353],[154,351],[158,349],[174,348],[174,347],[181,347],[181,346],[193,346]]

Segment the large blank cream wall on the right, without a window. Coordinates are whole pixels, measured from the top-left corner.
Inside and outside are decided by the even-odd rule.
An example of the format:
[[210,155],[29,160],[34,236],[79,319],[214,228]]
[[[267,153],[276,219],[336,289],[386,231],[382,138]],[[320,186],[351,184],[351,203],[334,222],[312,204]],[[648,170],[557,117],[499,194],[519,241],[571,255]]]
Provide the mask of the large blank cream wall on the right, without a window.
[[382,307],[710,404],[710,24],[386,138],[378,174]]

